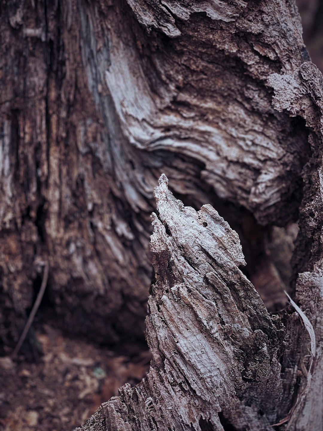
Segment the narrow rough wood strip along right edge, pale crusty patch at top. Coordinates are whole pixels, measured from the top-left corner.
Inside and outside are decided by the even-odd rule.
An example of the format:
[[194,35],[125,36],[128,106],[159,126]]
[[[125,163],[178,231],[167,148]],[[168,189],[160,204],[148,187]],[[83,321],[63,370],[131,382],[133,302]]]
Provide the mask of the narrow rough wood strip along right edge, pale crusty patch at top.
[[[277,110],[289,110],[291,115],[301,115],[310,130],[309,142],[313,159],[304,167],[304,197],[300,206],[300,231],[294,253],[294,272],[297,276],[296,298],[301,309],[314,327],[316,357],[312,365],[310,385],[303,381],[298,405],[289,418],[289,429],[305,430],[323,428],[323,171],[322,171],[322,115],[323,78],[311,62],[304,63],[292,75],[272,75],[273,102]],[[302,337],[304,340],[304,336]],[[302,349],[302,341],[295,341],[295,352],[311,363],[311,350]]]

